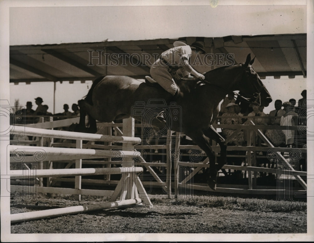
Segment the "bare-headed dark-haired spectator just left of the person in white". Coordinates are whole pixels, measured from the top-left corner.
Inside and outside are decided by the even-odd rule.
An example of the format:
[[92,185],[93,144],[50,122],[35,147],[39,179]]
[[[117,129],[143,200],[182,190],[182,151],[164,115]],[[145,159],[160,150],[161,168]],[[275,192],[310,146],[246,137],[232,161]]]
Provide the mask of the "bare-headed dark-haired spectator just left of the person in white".
[[[273,117],[279,117],[279,118],[270,118],[269,120],[269,125],[272,126],[279,126],[280,125],[280,118],[281,116],[283,116],[284,114],[286,114],[286,112],[281,109],[282,107],[282,101],[281,100],[276,100],[275,101],[275,110],[270,111],[269,112],[269,116],[273,116]],[[265,135],[268,137],[268,139],[270,140],[270,142],[278,147],[278,146],[283,146],[285,143],[285,135],[282,132],[282,130],[267,130]]]

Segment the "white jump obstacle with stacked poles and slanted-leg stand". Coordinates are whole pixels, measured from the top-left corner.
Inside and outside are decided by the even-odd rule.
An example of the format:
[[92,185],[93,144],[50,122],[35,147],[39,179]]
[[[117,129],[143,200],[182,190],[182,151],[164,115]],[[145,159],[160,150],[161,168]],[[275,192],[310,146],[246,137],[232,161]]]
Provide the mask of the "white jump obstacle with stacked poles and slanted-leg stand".
[[[80,132],[67,132],[67,131],[56,131],[56,130],[46,130],[34,127],[18,127],[14,126],[11,133],[15,135],[29,135],[36,137],[47,137],[47,138],[65,138],[77,140],[77,148],[53,148],[53,147],[34,147],[34,146],[20,146],[20,145],[10,145],[9,151],[11,156],[15,159],[20,159],[19,161],[24,161],[24,159],[34,159],[34,161],[45,161],[49,156],[63,156],[69,157],[71,159],[77,159],[76,162],[81,163],[81,158],[84,156],[96,157],[118,157],[121,160],[124,158],[141,159],[141,153],[133,150],[133,144],[140,143],[140,138],[135,138],[133,136],[110,136],[102,134],[87,134]],[[98,150],[98,149],[82,149],[82,140],[88,141],[102,141],[102,142],[118,142],[124,143],[124,145],[130,146],[131,151],[121,151],[121,150]],[[80,147],[80,148],[79,148]],[[79,165],[80,166],[80,165]],[[42,167],[42,166],[41,166]],[[75,176],[75,180],[81,180],[81,176],[86,175],[111,175],[111,174],[121,174],[122,178],[116,186],[115,191],[110,193],[110,202],[107,203],[97,203],[91,205],[82,205],[66,208],[55,208],[42,211],[32,211],[26,213],[16,213],[11,215],[11,223],[42,219],[46,217],[54,217],[65,214],[80,213],[85,211],[92,211],[98,209],[114,208],[119,206],[145,206],[152,207],[152,203],[141,183],[137,174],[143,172],[142,167],[134,167],[130,165],[125,165],[120,168],[76,168],[76,169],[48,169],[40,170],[37,169],[26,169],[26,170],[10,170],[10,178],[12,179],[33,179],[34,177],[63,177],[63,176]],[[24,188],[25,189],[25,188]],[[47,189],[57,189],[52,187],[47,187]],[[61,188],[62,189],[62,188]],[[63,188],[64,189],[64,188]],[[79,191],[80,185],[76,185],[75,189]],[[108,191],[109,192],[109,191]],[[109,195],[109,194],[108,194]],[[143,197],[139,198],[139,195]],[[120,196],[120,199],[117,198]]]

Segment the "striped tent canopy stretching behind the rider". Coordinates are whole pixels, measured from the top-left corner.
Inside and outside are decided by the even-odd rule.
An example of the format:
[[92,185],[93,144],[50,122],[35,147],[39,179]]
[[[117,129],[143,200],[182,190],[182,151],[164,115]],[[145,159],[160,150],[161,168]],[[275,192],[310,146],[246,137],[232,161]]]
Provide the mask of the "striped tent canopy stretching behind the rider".
[[[306,77],[306,34],[225,37],[183,37],[186,44],[204,43],[205,72],[256,57],[253,67],[261,78]],[[160,54],[173,47],[174,39],[103,41],[56,45],[10,46],[10,82],[93,80],[101,75],[144,78]],[[204,57],[204,56],[203,56]]]

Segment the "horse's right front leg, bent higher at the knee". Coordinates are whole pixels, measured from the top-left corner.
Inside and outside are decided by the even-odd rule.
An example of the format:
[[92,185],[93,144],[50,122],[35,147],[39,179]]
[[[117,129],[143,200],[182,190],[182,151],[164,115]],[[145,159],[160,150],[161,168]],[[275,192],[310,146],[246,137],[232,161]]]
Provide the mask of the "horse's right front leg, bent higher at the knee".
[[208,129],[203,131],[205,136],[214,139],[220,146],[220,159],[218,160],[218,165],[216,170],[220,170],[225,164],[227,164],[227,144],[225,139],[220,136],[220,134],[215,130],[215,128],[210,125]]

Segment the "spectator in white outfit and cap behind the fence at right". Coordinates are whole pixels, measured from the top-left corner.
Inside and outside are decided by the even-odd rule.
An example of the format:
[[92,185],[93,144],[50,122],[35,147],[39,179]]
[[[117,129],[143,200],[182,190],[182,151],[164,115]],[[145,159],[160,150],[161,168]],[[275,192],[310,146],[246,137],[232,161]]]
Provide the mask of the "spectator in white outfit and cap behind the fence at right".
[[[292,111],[290,108],[291,103],[290,102],[284,102],[282,104],[284,106],[284,111],[286,112],[283,116],[281,116],[280,119],[280,125],[281,126],[296,126],[298,121],[298,115]],[[285,143],[286,145],[292,145],[292,147],[295,147],[294,143],[294,137],[295,137],[295,130],[283,130],[285,135]]]

